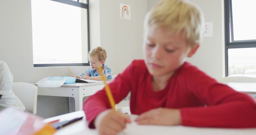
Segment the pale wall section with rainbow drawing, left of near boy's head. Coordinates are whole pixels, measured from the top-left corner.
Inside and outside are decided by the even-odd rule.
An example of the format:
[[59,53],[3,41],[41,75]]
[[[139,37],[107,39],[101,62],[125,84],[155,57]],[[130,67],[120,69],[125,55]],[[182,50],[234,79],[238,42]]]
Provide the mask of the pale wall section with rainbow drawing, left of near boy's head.
[[[121,19],[119,4],[131,6],[131,20]],[[100,0],[100,39],[106,49],[107,64],[120,73],[134,59],[142,56],[143,20],[146,0]]]

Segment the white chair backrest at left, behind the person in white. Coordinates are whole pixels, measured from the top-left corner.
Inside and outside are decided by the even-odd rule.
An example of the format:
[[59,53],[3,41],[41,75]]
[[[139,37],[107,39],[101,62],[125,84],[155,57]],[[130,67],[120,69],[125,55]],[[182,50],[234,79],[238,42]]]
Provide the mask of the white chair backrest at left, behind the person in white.
[[26,111],[33,114],[36,114],[37,89],[38,87],[32,83],[14,82],[12,84],[14,94],[19,97]]

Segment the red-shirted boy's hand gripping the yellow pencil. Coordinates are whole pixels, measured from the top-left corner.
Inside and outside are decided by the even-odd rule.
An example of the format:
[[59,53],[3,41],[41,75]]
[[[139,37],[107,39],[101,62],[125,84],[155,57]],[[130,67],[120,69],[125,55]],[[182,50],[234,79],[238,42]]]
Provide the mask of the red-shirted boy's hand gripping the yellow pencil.
[[131,123],[129,116],[113,109],[103,111],[94,120],[99,135],[116,135],[126,128],[126,123]]

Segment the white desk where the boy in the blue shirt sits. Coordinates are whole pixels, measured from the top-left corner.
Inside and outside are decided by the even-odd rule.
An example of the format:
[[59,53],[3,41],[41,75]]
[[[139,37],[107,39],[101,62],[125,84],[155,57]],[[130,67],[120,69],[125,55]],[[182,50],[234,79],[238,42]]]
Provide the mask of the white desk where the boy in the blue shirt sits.
[[[83,97],[93,95],[104,87],[103,82],[96,83],[72,83],[61,87],[38,87],[38,95],[74,97],[75,111],[83,109]],[[70,111],[72,111],[70,103]]]

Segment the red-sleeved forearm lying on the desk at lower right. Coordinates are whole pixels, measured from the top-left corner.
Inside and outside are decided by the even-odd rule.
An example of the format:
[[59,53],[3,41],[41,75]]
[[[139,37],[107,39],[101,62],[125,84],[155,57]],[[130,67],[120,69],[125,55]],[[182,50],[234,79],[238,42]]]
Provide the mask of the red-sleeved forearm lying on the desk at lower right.
[[197,127],[256,127],[254,103],[232,101],[181,109],[182,125]]

